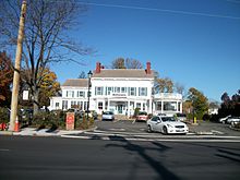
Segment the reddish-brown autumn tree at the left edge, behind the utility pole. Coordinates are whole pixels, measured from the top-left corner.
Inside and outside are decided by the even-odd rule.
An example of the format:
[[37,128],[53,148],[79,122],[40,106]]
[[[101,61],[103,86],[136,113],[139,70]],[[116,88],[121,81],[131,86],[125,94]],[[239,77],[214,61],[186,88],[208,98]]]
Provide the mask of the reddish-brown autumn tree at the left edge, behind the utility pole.
[[10,106],[12,79],[12,61],[5,51],[0,52],[0,106]]

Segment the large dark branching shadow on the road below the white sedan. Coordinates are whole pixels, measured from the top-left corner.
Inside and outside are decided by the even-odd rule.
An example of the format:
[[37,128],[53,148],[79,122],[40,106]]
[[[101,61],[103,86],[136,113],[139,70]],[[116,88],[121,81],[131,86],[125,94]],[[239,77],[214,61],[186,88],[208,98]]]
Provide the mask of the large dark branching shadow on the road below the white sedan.
[[[156,159],[154,159],[153,157],[151,157],[146,151],[156,151],[159,152],[160,154],[163,154],[164,152],[170,149],[170,147],[165,146],[160,143],[157,142],[153,142],[153,144],[156,147],[143,147],[141,145],[137,144],[133,144],[132,142],[125,140],[122,136],[118,136],[118,135],[110,135],[109,139],[113,142],[113,141],[118,141],[118,142],[122,142],[124,144],[119,145],[119,144],[107,144],[106,147],[120,147],[120,148],[124,148],[129,152],[132,152],[133,154],[140,155],[151,167],[153,170],[155,170],[158,175],[157,179],[163,179],[163,180],[180,180],[179,177],[177,177],[175,173],[172,173],[170,170],[168,170],[160,161],[157,161]],[[133,168],[137,168],[137,164],[136,167]],[[131,177],[131,179],[134,179],[134,177]]]

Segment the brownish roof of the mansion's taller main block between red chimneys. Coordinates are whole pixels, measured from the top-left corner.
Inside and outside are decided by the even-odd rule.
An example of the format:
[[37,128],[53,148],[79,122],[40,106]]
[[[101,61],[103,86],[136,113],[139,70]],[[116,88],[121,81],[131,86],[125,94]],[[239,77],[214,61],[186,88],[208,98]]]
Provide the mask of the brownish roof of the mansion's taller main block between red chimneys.
[[101,69],[100,73],[93,73],[93,77],[135,77],[135,79],[153,79],[154,71],[147,74],[143,69]]

